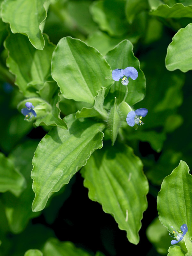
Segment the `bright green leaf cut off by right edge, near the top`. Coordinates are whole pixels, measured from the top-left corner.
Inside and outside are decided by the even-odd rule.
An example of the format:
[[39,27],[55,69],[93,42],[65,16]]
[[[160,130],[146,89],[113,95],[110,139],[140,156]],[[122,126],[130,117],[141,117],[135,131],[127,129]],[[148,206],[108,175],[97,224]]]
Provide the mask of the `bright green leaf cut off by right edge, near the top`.
[[192,24],[188,24],[187,27],[181,28],[173,36],[172,42],[167,48],[165,58],[165,65],[169,71],[180,69],[182,72],[187,72],[192,69],[191,33]]

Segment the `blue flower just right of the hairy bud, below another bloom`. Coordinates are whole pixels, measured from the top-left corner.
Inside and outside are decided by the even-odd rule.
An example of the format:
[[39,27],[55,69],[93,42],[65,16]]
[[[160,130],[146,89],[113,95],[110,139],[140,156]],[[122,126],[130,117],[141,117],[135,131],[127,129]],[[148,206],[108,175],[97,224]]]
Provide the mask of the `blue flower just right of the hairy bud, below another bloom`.
[[145,117],[148,113],[148,109],[147,108],[138,108],[135,111],[130,111],[127,114],[127,124],[129,124],[129,126],[134,126],[135,124],[143,124],[143,122],[141,121],[142,117]]

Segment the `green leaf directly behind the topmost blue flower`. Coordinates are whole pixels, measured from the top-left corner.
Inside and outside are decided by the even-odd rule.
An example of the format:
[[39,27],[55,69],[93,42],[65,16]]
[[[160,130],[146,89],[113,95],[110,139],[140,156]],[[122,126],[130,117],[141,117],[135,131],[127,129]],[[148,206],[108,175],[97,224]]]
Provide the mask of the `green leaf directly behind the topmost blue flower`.
[[[129,78],[129,84],[127,85],[128,95],[125,101],[131,106],[144,98],[146,85],[145,76],[140,69],[140,62],[134,56],[132,50],[132,43],[128,40],[124,40],[117,44],[116,47],[106,55],[106,60],[112,69],[134,67],[138,71],[138,78],[136,80]],[[126,86],[123,86],[121,81],[115,82],[110,89],[110,93],[113,99],[116,97],[117,102],[121,102],[126,93]]]

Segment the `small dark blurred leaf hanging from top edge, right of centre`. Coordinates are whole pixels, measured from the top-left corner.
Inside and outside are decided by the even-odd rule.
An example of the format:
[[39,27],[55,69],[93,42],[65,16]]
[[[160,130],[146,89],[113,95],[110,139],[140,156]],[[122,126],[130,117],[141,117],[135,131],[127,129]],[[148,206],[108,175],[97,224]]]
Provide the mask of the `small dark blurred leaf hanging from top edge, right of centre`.
[[148,10],[147,0],[127,0],[126,1],[125,14],[129,23],[132,23],[136,14],[145,10]]

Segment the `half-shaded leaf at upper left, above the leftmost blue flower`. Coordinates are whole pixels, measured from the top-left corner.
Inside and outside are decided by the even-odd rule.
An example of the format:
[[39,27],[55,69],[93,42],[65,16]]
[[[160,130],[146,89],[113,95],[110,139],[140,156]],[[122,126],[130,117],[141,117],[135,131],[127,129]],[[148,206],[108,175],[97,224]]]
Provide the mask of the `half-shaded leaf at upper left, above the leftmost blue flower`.
[[[15,84],[18,85],[24,96],[38,96],[38,89],[51,76],[51,59],[55,45],[45,37],[43,50],[35,49],[28,38],[21,34],[10,34],[5,41],[8,50],[6,65],[9,71],[16,76]],[[33,84],[39,84],[37,89]]]

